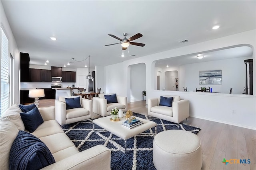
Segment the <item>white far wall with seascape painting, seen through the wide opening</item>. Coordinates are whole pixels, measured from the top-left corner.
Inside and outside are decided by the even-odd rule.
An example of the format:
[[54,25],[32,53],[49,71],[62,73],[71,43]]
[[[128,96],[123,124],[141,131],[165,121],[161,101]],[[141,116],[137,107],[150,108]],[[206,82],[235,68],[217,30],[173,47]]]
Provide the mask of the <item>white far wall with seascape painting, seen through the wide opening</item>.
[[[213,92],[229,93],[230,88],[233,88],[232,94],[242,94],[245,87],[244,60],[251,58],[240,57],[180,66],[180,71],[184,73],[180,80],[185,80],[180,82],[180,86],[187,87],[188,91],[193,92],[196,88],[210,86]],[[199,71],[203,70],[222,70],[222,84],[199,84]]]

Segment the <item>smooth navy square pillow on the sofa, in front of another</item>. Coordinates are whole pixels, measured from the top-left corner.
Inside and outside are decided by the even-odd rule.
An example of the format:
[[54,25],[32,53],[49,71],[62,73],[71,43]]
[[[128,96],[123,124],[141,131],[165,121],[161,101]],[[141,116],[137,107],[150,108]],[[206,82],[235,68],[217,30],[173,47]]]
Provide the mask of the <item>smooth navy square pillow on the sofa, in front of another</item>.
[[20,113],[20,117],[24,123],[25,129],[30,133],[34,132],[36,128],[44,123],[44,120],[37,107],[28,111],[27,113]]

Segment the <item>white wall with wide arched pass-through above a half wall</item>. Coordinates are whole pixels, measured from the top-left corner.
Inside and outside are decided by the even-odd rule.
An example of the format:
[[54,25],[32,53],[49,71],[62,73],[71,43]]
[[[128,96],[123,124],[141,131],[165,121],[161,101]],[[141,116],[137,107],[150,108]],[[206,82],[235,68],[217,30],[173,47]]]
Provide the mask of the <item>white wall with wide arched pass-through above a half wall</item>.
[[[220,48],[237,47],[239,45],[249,45],[250,47],[252,47],[254,51],[253,58],[255,60],[256,29],[124,61],[123,63],[119,63],[123,66],[123,74],[120,74],[120,72],[112,72],[112,74],[116,74],[112,75],[113,77],[127,77],[124,79],[124,87],[115,86],[116,91],[124,91],[124,93],[126,92],[128,102],[130,102],[130,98],[128,95],[130,94],[130,77],[128,75],[128,73],[130,72],[129,66],[138,63],[145,63],[147,98],[159,97],[163,94],[180,95],[181,98],[190,100],[190,116],[192,117],[198,117],[202,119],[227,123],[230,125],[237,125],[250,129],[256,129],[255,95],[213,94],[154,90],[156,83],[156,71],[154,66],[157,60],[206,52]],[[113,68],[110,68],[110,66],[106,66],[105,68],[106,71],[108,71],[109,69],[113,70]],[[182,75],[184,75],[184,72],[179,74],[179,76]],[[254,72],[254,92],[256,89],[255,75],[256,73]],[[112,82],[110,83],[109,81],[106,81],[106,88],[110,88],[112,84]]]

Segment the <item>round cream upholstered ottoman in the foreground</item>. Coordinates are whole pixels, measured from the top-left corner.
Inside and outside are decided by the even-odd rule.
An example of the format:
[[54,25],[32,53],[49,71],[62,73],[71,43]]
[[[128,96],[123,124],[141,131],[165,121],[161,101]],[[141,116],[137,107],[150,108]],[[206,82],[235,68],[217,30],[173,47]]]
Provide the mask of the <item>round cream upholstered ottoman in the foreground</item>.
[[160,132],[154,137],[153,162],[157,170],[200,170],[201,141],[188,131]]

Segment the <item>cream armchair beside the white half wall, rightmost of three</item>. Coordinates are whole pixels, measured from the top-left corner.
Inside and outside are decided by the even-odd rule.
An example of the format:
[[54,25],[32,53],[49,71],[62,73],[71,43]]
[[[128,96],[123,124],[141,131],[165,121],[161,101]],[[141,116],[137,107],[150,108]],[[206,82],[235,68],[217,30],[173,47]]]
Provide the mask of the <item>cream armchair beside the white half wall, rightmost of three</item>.
[[178,123],[179,127],[179,123],[189,116],[189,101],[180,100],[180,96],[164,97],[173,97],[172,107],[159,106],[160,98],[151,98],[148,100],[148,115]]

